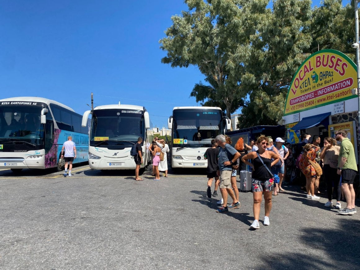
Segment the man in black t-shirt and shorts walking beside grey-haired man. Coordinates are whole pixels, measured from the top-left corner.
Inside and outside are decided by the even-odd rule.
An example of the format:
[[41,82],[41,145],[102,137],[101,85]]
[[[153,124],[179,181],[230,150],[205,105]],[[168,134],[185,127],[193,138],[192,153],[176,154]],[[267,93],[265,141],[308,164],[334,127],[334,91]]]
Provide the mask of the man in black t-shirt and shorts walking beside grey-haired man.
[[217,143],[215,139],[211,140],[211,148],[208,148],[204,154],[204,159],[207,159],[207,197],[211,198],[211,184],[212,179],[215,178],[215,189],[213,196],[217,196],[217,189],[219,188],[219,176],[217,176],[217,171],[219,166],[217,165],[217,155],[219,154],[219,148],[217,148]]

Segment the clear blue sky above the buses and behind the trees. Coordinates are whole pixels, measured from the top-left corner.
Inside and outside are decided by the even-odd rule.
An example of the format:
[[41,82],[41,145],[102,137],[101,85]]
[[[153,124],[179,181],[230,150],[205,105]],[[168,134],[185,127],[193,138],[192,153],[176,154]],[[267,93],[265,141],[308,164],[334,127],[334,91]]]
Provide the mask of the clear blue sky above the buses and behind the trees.
[[2,0],[0,99],[39,96],[82,114],[93,92],[94,106],[142,105],[167,127],[173,107],[200,105],[190,92],[204,79],[161,64],[158,41],[181,10],[182,0]]

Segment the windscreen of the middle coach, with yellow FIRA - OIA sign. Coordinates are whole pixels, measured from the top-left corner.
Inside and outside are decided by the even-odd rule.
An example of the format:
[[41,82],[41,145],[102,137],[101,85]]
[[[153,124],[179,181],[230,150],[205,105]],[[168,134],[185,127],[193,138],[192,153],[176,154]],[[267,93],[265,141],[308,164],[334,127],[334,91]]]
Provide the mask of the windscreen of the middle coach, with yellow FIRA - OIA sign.
[[118,109],[102,109],[93,112],[90,145],[132,145],[139,137],[143,140],[145,137],[143,111],[121,113]]

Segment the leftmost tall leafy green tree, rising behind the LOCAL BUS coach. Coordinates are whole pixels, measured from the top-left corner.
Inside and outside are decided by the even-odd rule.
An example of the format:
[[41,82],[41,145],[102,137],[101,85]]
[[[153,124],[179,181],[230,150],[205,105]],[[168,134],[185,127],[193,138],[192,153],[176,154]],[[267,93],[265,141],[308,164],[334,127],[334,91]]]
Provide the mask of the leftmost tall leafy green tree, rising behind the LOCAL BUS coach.
[[167,37],[159,41],[167,52],[162,63],[170,63],[171,67],[197,66],[210,86],[198,84],[192,95],[203,104],[224,104],[228,117],[247,94],[241,84],[246,80],[250,55],[242,14],[247,2],[185,0],[189,11],[172,16]]

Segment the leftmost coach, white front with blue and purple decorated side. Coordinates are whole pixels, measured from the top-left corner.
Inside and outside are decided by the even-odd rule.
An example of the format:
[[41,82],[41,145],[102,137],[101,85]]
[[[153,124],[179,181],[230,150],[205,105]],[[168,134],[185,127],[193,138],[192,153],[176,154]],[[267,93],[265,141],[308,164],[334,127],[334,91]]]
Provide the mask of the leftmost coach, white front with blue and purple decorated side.
[[[0,168],[63,170],[62,145],[68,136],[76,144],[74,163],[87,162],[89,127],[68,106],[38,97],[0,100]],[[59,162],[60,160],[60,162]]]

